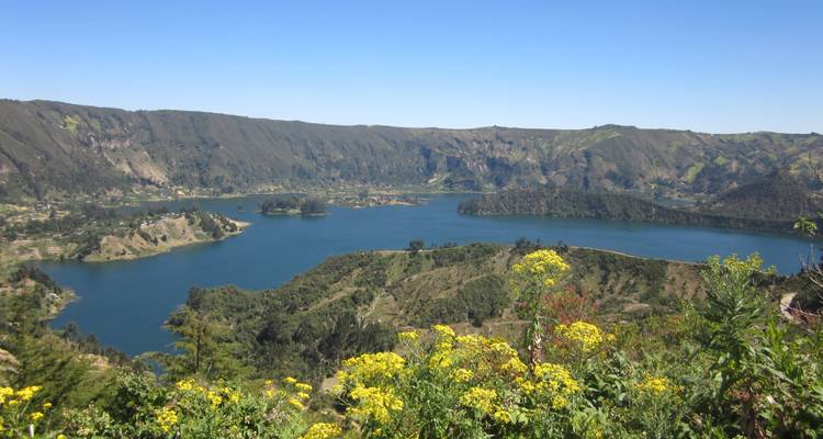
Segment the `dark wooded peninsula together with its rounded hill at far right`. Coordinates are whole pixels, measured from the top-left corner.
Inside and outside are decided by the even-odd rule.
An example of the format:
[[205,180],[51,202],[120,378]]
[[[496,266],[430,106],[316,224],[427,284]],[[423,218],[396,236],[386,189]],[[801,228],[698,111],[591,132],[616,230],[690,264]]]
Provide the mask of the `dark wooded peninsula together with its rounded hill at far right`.
[[[766,180],[771,180],[767,178]],[[792,181],[793,180],[781,180]],[[585,192],[557,187],[511,189],[483,195],[460,204],[458,211],[472,215],[544,215],[561,218],[602,218],[645,223],[723,227],[770,233],[792,233],[799,216],[814,212],[815,204],[807,191],[794,185],[757,181],[723,194],[697,207],[666,207],[632,195]],[[748,192],[749,187],[753,188]],[[759,188],[759,189],[757,189]],[[767,190],[769,189],[769,190]],[[796,191],[797,190],[797,191]],[[796,203],[779,201],[791,192]],[[799,193],[799,194],[798,194]],[[802,195],[801,195],[802,194]],[[778,201],[776,201],[778,200]],[[763,216],[759,212],[779,203],[780,214]]]

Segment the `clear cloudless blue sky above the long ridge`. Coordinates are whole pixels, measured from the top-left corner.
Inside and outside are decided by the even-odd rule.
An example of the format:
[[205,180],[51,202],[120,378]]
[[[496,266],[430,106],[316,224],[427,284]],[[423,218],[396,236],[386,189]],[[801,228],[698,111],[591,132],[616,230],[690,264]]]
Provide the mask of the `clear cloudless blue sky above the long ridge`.
[[0,2],[0,98],[335,124],[823,132],[823,1]]

